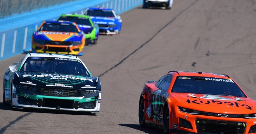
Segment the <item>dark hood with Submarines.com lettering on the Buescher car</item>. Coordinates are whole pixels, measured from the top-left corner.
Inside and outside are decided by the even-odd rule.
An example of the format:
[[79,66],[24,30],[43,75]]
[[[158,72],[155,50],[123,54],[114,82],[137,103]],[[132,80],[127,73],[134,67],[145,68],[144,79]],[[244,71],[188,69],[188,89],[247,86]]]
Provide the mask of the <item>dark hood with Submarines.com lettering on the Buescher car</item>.
[[16,72],[13,84],[31,87],[96,89],[98,77],[56,73]]

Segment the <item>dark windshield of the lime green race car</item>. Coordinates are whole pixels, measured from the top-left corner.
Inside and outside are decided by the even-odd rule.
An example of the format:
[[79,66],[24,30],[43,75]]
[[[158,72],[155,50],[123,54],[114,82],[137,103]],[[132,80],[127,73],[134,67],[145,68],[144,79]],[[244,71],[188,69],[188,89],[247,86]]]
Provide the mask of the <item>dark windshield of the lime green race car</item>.
[[86,17],[61,16],[58,19],[58,21],[70,21],[70,22],[76,22],[76,24],[79,24],[79,25],[91,26],[91,22],[89,18],[86,18]]

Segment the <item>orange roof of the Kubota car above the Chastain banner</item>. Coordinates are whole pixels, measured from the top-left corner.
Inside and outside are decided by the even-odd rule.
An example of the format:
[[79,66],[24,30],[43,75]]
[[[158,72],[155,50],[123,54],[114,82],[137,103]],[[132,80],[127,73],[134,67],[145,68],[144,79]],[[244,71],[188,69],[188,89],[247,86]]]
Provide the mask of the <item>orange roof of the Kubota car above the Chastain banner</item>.
[[169,71],[168,74],[173,76],[198,76],[198,77],[216,77],[223,79],[231,79],[228,75],[218,73],[207,73],[207,72],[189,72],[189,71]]

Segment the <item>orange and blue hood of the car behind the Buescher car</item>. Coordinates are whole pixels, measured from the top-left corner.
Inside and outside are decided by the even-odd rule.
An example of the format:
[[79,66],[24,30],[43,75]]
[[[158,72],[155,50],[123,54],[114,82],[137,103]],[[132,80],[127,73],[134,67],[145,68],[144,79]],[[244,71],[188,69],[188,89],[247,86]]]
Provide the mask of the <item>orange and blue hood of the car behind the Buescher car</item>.
[[83,35],[76,32],[36,31],[34,39],[52,41],[81,41]]

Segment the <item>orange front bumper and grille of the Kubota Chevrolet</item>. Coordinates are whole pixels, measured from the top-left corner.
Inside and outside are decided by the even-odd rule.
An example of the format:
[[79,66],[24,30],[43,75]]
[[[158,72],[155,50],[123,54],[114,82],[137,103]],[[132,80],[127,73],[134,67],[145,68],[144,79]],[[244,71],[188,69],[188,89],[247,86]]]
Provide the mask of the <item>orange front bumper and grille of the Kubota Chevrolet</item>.
[[176,111],[170,132],[177,134],[256,134],[256,119],[193,115]]

